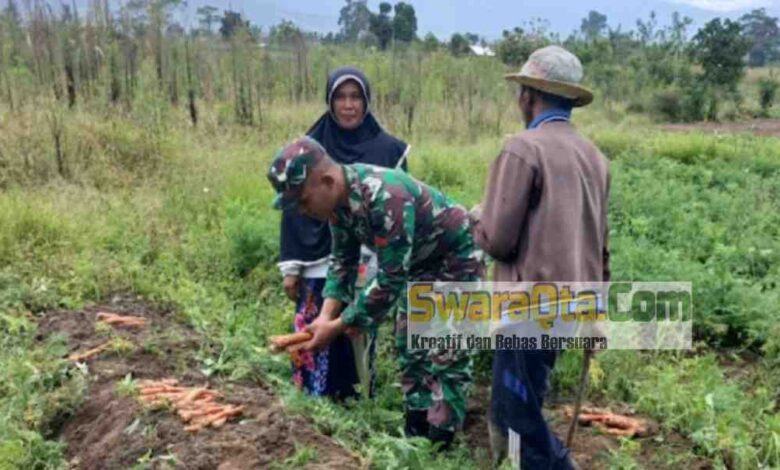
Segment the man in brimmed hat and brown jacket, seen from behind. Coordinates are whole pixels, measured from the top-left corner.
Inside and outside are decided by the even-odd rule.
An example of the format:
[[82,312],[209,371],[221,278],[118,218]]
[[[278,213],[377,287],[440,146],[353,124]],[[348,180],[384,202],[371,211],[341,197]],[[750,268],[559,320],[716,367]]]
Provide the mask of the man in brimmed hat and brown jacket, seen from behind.
[[[527,130],[493,162],[482,204],[472,211],[477,244],[495,260],[498,282],[609,280],[608,161],[570,123],[593,94],[569,51],[535,51],[517,82]],[[523,469],[573,468],[542,415],[557,351],[498,350],[493,359],[491,447]]]

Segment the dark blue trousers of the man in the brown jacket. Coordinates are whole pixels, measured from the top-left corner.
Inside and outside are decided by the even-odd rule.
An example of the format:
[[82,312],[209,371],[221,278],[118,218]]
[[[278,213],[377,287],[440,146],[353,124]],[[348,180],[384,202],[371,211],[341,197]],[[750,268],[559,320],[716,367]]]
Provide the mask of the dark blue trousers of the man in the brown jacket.
[[523,470],[574,468],[569,450],[542,415],[557,354],[496,351],[490,407],[490,441],[496,463],[508,456]]

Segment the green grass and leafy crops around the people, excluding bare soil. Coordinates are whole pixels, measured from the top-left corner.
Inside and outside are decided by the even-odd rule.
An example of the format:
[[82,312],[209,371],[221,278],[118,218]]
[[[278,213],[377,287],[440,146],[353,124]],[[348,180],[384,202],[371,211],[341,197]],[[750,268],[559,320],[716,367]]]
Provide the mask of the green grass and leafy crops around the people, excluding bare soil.
[[[216,109],[193,130],[153,101],[125,116],[82,108],[66,124],[67,180],[52,172],[45,133],[0,114],[0,468],[61,467],[62,445],[50,438],[83,392],[83,376],[60,359],[62,340],[35,340],[36,316],[116,291],[172,305],[203,334],[193,354],[207,373],[271,381],[290,409],[376,467],[484,462],[465,442],[440,456],[424,441],[401,437],[389,350],[380,355],[377,399],[346,408],[294,391],[286,361],[264,352],[268,334],[290,328],[292,311],[273,265],[278,214],[269,205],[265,165],[319,110],[274,107],[257,130],[225,124]],[[42,119],[31,109],[18,116]],[[517,127],[505,121],[500,134]],[[780,305],[780,145],[660,133],[619,110],[588,110],[576,121],[612,160],[613,277],[693,281],[701,343],[690,355],[599,355],[591,393],[633,404],[689,437],[696,455],[718,466],[780,466],[777,384],[770,380],[780,366],[773,321]],[[436,122],[443,125],[442,116]],[[467,205],[478,202],[501,138],[415,132],[412,173]],[[731,378],[718,360],[723,348],[762,359],[747,377]],[[556,393],[571,396],[578,374],[579,357],[565,354]],[[124,385],[130,393],[131,382]],[[635,454],[626,443],[608,456],[609,465],[636,468]],[[303,447],[280,464],[313,458]]]

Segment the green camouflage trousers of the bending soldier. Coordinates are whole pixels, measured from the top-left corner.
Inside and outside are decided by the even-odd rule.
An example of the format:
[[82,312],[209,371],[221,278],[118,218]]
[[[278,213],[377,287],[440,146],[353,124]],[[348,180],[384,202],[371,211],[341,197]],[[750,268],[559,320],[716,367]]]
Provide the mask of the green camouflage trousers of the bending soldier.
[[[476,282],[484,275],[482,253],[473,250],[459,257],[457,266],[438,273],[411,275],[410,281]],[[406,295],[398,302],[395,341],[401,366],[401,388],[407,411],[427,410],[428,423],[444,431],[456,431],[466,418],[466,404],[473,378],[470,351],[410,350],[407,345]]]

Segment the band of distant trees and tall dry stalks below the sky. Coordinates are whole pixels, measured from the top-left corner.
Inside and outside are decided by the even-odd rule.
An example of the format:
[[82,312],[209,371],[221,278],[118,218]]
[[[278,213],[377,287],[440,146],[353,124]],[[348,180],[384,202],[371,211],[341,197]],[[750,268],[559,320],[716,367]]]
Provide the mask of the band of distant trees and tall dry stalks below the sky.
[[[663,103],[672,120],[715,119],[746,114],[736,86],[745,57],[753,65],[767,64],[776,60],[780,47],[778,20],[762,9],[738,22],[707,23],[693,40],[687,31],[691,20],[679,14],[660,23],[651,14],[623,31],[610,28],[606,15],[591,11],[565,41],[537,19],[507,29],[498,41],[488,43],[468,32],[444,40],[432,33],[419,38],[409,0],[373,4],[376,11],[369,9],[367,0],[345,0],[338,33],[316,35],[282,21],[267,31],[267,43],[260,44],[259,27],[244,15],[208,4],[194,9],[196,24],[190,30],[181,26],[186,25],[180,16],[183,0],[126,0],[118,8],[110,8],[110,0],[90,0],[85,13],[77,4],[49,7],[45,0],[0,0],[3,106],[20,109],[45,95],[63,107],[102,99],[108,106],[131,110],[139,97],[151,97],[174,108],[186,106],[197,124],[200,100],[207,106],[221,100],[234,105],[237,122],[254,125],[263,122],[266,104],[280,97],[299,102],[314,96],[322,73],[318,67],[327,70],[334,65],[330,48],[352,38],[353,44],[364,47],[396,49],[391,55],[367,51],[359,57],[375,60],[374,70],[383,77],[377,80],[385,80],[378,89],[388,90],[378,95],[378,103],[403,106],[409,130],[418,116],[415,100],[420,94],[447,94],[460,86],[451,76],[440,84],[423,79],[430,73],[427,67],[435,63],[444,71],[461,62],[441,57],[441,52],[465,56],[473,49],[482,54],[475,45],[493,48],[500,62],[462,61],[473,72],[459,95],[466,110],[477,109],[468,87],[482,86],[480,67],[516,70],[535,49],[563,44],[580,58],[588,86],[607,106],[623,102],[638,112],[653,111],[656,103]],[[312,42],[324,44],[324,52]],[[435,60],[427,62],[434,52]],[[412,69],[414,79],[406,76]],[[778,93],[773,81],[759,83],[764,113]],[[723,112],[717,109],[720,103]],[[53,130],[58,129],[57,122],[52,121]]]

